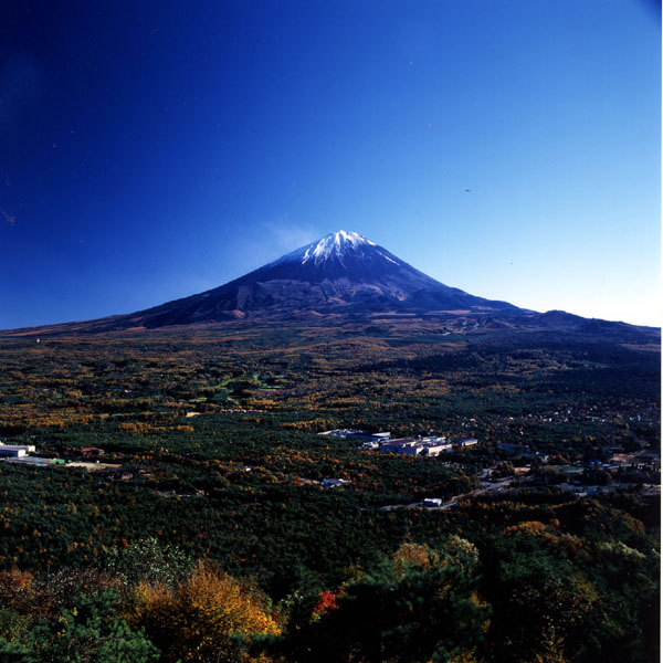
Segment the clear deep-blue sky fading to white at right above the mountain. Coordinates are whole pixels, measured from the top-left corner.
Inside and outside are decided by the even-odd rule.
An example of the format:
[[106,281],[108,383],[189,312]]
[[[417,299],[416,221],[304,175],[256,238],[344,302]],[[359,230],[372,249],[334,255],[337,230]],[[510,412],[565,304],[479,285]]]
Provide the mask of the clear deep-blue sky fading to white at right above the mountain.
[[655,0],[22,0],[0,55],[0,328],[340,229],[474,295],[661,323]]

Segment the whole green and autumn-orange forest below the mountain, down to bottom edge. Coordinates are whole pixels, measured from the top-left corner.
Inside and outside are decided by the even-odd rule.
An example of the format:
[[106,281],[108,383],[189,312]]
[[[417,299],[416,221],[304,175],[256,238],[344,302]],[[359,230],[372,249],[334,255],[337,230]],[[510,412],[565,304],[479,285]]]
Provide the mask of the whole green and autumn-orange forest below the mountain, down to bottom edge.
[[227,325],[0,372],[0,441],[63,461],[0,462],[0,660],[659,660],[655,339]]

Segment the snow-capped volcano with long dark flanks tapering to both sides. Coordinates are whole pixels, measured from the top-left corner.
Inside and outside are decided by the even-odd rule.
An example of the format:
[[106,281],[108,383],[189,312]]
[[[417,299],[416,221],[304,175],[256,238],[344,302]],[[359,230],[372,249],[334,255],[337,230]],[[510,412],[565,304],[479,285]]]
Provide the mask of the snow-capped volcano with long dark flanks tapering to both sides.
[[424,316],[461,333],[519,327],[600,334],[639,329],[477,297],[431,278],[359,233],[340,230],[197,295],[127,315],[14,332],[97,333],[231,320],[385,316]]

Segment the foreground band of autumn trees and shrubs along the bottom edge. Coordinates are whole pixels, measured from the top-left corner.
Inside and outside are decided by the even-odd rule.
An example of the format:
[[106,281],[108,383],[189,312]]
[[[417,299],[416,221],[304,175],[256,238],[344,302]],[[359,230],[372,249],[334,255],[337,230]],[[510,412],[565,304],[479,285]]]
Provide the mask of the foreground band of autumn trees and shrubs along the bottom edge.
[[103,663],[657,661],[655,539],[623,511],[541,497],[466,505],[436,536],[441,518],[429,517],[335,578],[292,560],[287,587],[271,593],[257,569],[229,575],[154,537],[92,565],[12,568],[0,573],[0,652]]

